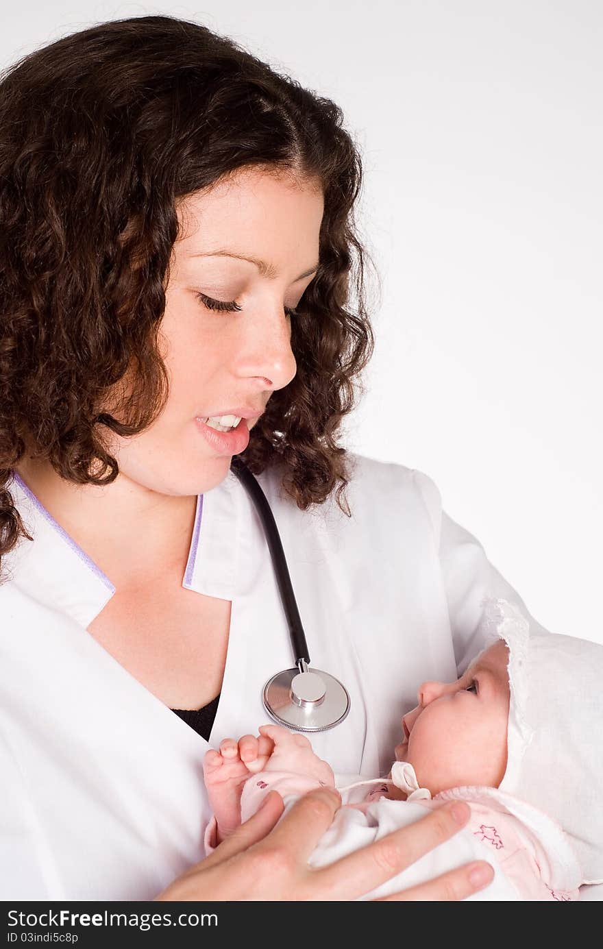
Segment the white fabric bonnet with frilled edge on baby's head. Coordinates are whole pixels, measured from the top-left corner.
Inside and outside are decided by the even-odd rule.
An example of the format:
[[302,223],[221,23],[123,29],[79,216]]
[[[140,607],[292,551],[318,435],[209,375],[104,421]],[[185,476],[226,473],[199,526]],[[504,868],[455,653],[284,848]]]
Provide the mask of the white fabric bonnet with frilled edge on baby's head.
[[[603,645],[530,630],[485,600],[484,632],[509,647],[507,767],[499,791],[563,828],[583,883],[603,883]],[[487,648],[487,646],[486,646]]]

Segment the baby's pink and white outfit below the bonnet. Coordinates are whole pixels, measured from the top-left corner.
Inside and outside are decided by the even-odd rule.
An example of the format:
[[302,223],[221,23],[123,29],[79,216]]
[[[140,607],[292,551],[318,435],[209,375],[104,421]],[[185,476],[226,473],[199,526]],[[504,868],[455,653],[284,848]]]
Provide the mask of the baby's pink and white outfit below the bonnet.
[[[295,771],[295,758],[292,750],[290,771],[264,771],[248,778],[241,796],[243,821],[255,813],[269,791],[281,794],[287,812],[300,794],[319,787],[317,781]],[[333,863],[391,830],[420,820],[425,809],[442,807],[453,798],[466,801],[471,809],[469,823],[458,834],[386,884],[371,890],[362,900],[424,883],[475,860],[487,860],[494,867],[495,877],[468,900],[570,902],[580,899],[578,887],[582,878],[574,851],[561,828],[537,809],[510,795],[499,794],[495,801],[491,788],[456,788],[437,794],[433,800],[399,801],[386,798],[386,783],[373,783],[367,792],[366,779],[358,777],[356,782],[350,790],[342,789],[345,806],[337,811],[330,828],[312,852],[311,866]],[[337,782],[340,783],[341,780]],[[215,831],[216,821],[212,819],[205,833],[208,853],[215,843]]]

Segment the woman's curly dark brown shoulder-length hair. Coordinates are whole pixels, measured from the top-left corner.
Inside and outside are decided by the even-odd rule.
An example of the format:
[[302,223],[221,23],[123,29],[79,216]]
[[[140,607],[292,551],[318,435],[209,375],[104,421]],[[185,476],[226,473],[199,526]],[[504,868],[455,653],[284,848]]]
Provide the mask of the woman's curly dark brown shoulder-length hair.
[[[160,415],[179,199],[246,166],[315,179],[325,210],[292,322],[297,372],[243,457],[255,474],[281,465],[300,509],[337,489],[349,513],[337,436],[374,341],[353,219],[362,164],[341,109],[198,23],[142,16],[11,65],[0,127],[0,557],[28,537],[8,491],[26,449],[67,480],[108,484],[103,426],[128,437]],[[125,379],[118,420],[107,398]]]

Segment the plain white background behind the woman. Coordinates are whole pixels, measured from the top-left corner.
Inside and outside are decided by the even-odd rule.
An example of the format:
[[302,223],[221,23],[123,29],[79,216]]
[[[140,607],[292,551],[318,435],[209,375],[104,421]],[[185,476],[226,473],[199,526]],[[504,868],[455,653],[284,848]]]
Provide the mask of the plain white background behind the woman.
[[94,23],[169,13],[341,105],[381,283],[346,443],[429,474],[540,623],[603,642],[603,3],[0,8],[3,66]]

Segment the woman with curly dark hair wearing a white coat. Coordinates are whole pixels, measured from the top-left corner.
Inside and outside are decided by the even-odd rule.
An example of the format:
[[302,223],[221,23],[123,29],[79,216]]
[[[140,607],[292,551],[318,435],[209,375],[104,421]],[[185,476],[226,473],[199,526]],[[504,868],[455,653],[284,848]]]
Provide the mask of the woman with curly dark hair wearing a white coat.
[[354,899],[455,815],[309,873],[336,797],[274,828],[273,795],[202,860],[207,742],[254,732],[292,664],[232,457],[271,502],[312,661],[349,690],[312,738],[337,771],[390,765],[416,682],[481,649],[485,595],[529,614],[427,475],[338,445],[372,342],[340,110],[150,16],[26,57],[0,120],[3,898]]

